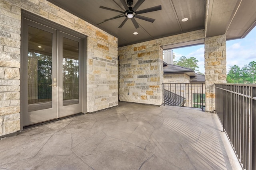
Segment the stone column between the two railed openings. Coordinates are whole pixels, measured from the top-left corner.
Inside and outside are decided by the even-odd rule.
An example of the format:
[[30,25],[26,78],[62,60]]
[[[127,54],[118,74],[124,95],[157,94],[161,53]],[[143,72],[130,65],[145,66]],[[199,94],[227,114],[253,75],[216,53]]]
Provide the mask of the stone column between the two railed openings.
[[215,110],[214,83],[226,83],[226,35],[205,38],[205,111]]

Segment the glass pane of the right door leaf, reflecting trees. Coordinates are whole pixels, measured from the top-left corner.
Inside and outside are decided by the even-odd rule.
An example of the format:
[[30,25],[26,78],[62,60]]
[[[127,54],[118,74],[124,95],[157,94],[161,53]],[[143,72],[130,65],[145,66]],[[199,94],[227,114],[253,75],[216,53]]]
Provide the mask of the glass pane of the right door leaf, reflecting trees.
[[78,42],[63,37],[63,106],[79,103]]

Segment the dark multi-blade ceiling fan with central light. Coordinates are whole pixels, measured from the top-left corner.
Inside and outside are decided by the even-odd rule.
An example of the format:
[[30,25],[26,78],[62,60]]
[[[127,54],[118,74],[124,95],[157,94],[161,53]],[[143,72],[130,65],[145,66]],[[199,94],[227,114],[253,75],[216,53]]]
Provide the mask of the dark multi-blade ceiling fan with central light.
[[[107,7],[104,7],[104,6],[100,6],[100,8],[105,9],[105,10],[110,10],[110,11],[122,13],[122,14],[116,16],[116,17],[106,19],[102,23],[104,23],[106,21],[109,21],[109,20],[114,20],[114,19],[117,19],[117,18],[126,17],[118,28],[121,28],[124,25],[124,23],[126,23],[126,21],[128,19],[131,19],[134,27],[137,29],[140,26],[138,25],[137,21],[134,18],[149,21],[149,22],[152,22],[152,23],[155,21],[155,19],[153,19],[153,18],[140,16],[138,14],[144,14],[144,13],[148,13],[148,12],[162,10],[162,6],[158,5],[158,6],[154,6],[154,7],[151,7],[151,8],[144,9],[144,10],[136,11],[145,0],[138,0],[137,3],[134,5],[134,7],[131,7],[132,4],[133,4],[133,0],[127,0],[127,5],[129,7],[126,5],[126,0],[120,0],[120,1],[123,4],[123,6],[126,10],[125,12],[115,10],[115,9],[112,9],[112,8],[107,8]],[[102,23],[99,23],[98,25],[100,25]]]

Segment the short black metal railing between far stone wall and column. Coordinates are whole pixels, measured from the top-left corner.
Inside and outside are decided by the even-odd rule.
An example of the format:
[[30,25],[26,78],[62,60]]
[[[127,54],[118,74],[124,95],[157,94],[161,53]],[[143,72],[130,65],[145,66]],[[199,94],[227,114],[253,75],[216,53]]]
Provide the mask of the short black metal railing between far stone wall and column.
[[163,104],[205,108],[204,83],[163,83]]

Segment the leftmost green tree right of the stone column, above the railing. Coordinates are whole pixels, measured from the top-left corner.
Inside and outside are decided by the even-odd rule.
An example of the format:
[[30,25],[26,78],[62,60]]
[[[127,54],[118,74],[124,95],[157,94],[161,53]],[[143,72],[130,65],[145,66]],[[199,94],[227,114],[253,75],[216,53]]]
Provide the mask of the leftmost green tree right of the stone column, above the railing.
[[230,67],[230,70],[228,71],[227,75],[227,83],[241,83],[240,76],[241,70],[239,66],[234,65]]

